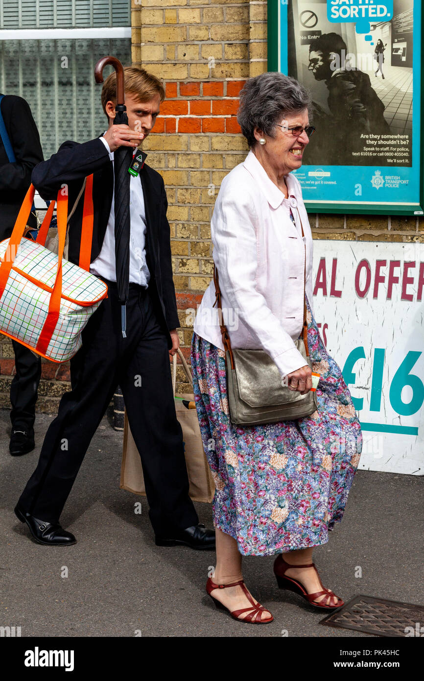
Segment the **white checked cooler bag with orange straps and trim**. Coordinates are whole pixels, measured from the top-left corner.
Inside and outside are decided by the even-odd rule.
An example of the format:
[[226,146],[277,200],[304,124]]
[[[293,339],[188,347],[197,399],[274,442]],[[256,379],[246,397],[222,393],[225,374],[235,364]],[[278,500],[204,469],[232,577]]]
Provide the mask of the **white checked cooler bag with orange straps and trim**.
[[22,238],[33,203],[31,185],[12,236],[0,242],[0,333],[52,362],[65,362],[82,345],[88,318],[107,297],[108,287],[88,272],[93,238],[93,175],[86,179],[79,265],[63,259],[67,193],[57,195],[59,254],[44,247],[54,201],[34,242]]

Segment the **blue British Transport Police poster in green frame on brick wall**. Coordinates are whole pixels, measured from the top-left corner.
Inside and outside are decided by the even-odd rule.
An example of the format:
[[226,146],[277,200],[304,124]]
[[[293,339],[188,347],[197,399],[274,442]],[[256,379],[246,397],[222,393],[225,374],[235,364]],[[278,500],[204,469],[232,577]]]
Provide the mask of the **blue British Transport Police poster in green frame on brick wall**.
[[270,0],[268,70],[297,78],[316,133],[308,210],[423,215],[421,0]]

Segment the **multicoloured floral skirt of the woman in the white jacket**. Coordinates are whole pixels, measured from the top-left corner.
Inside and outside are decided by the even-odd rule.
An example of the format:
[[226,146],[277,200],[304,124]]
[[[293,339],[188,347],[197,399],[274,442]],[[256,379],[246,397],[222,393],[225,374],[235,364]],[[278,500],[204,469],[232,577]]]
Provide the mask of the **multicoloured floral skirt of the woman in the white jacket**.
[[271,556],[328,541],[342,520],[362,434],[342,371],[327,353],[307,301],[318,410],[296,421],[235,426],[225,352],[193,333],[191,367],[203,447],[215,481],[214,524],[244,556]]

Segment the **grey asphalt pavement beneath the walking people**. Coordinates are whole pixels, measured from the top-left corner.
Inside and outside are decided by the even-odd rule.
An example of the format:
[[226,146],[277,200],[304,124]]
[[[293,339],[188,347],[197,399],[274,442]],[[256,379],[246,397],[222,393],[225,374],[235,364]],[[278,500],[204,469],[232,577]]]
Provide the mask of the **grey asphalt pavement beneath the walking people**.
[[[13,509],[52,418],[38,414],[36,449],[12,457],[9,413],[0,410],[1,626],[21,627],[22,637],[369,637],[319,624],[328,613],[277,588],[273,557],[244,558],[244,578],[274,622],[242,624],[216,609],[205,591],[214,551],[154,545],[146,499],[119,488],[123,434],[108,417],[61,516],[78,542],[35,543]],[[314,551],[325,586],[344,601],[363,594],[424,605],[422,486],[422,477],[357,473],[342,522]],[[212,527],[210,505],[196,508]]]

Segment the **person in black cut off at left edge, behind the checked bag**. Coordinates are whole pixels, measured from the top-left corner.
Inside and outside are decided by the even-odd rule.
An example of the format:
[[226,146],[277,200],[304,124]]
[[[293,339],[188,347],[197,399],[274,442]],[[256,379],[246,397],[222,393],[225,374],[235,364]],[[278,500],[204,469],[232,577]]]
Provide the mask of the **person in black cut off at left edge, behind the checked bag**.
[[[3,96],[3,95],[2,95]],[[31,172],[43,160],[37,125],[25,99],[17,95],[4,95],[0,103],[1,114],[16,158],[10,162],[0,137],[0,241],[12,234],[16,218],[25,194],[31,185]],[[35,215],[28,224],[37,227]],[[35,447],[35,402],[39,379],[42,375],[41,360],[25,345],[12,340],[16,374],[10,385],[10,454],[20,456]]]

